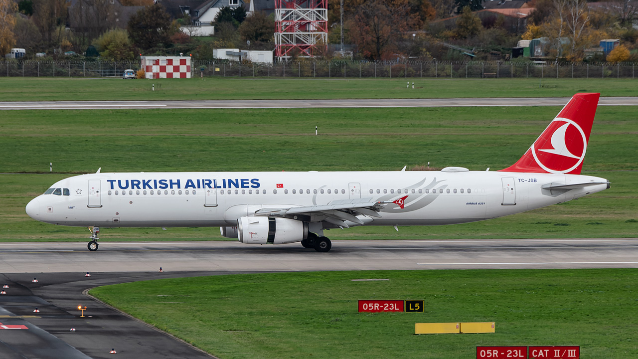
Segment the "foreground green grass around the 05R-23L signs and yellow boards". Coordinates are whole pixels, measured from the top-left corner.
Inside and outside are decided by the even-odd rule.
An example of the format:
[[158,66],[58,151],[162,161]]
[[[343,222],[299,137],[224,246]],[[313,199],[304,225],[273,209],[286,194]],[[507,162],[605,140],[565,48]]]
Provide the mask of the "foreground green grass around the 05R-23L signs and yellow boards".
[[[352,282],[350,279],[390,279]],[[161,279],[98,287],[104,302],[222,359],[473,358],[476,346],[580,346],[636,358],[638,270],[345,271]],[[358,313],[357,300],[425,300]],[[413,335],[494,321],[496,333]]]

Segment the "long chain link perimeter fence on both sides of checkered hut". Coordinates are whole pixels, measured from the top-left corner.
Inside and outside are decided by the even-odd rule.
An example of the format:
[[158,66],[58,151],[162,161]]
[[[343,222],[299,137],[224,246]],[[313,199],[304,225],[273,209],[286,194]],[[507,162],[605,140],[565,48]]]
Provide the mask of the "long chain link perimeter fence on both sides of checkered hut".
[[[634,79],[635,67],[634,63],[517,61],[300,61],[278,64],[192,61],[191,77]],[[0,77],[121,77],[124,70],[139,68],[138,61],[0,61]]]

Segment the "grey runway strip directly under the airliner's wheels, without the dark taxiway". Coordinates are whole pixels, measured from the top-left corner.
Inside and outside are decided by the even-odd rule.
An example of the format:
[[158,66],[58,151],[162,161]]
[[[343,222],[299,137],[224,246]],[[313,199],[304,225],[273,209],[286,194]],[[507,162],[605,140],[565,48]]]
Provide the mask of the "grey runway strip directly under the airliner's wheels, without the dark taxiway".
[[237,241],[0,243],[0,272],[423,270],[638,268],[638,238],[333,241],[318,253],[299,243]]

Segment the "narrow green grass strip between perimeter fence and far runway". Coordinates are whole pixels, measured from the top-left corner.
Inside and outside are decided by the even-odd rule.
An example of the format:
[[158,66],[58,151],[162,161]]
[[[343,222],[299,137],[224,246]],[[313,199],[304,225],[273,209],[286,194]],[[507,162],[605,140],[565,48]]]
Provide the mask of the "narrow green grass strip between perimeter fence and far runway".
[[[633,79],[75,79],[0,77],[2,101],[635,96]],[[151,91],[151,85],[155,91]],[[542,85],[542,86],[539,86]]]

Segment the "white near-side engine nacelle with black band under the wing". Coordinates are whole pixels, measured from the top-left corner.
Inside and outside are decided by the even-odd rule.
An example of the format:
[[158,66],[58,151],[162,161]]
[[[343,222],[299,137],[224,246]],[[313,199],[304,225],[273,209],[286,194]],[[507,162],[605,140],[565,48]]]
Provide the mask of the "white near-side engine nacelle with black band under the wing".
[[308,224],[290,218],[240,217],[239,241],[247,244],[294,243],[308,238]]

